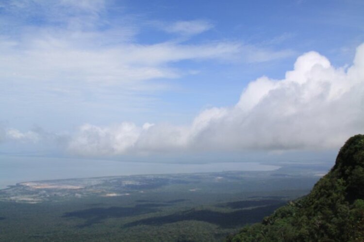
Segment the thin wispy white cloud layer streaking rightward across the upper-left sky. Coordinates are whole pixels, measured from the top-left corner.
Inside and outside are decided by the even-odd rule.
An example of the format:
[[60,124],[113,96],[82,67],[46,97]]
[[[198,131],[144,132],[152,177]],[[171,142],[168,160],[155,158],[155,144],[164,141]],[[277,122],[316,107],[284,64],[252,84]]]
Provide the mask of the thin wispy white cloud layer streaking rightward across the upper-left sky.
[[137,87],[141,81],[188,74],[189,70],[169,66],[183,60],[236,61],[241,55],[245,62],[265,62],[293,54],[290,50],[273,51],[227,41],[150,45],[124,42],[99,47],[104,34],[113,33],[50,30],[21,39],[2,37],[1,76],[10,81],[57,82],[60,86],[67,81],[87,81]]

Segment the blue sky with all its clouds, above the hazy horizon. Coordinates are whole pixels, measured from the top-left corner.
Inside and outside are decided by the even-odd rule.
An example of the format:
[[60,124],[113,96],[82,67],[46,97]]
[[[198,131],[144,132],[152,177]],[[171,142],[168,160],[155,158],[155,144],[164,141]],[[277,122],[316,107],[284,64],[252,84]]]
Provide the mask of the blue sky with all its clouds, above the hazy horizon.
[[361,0],[1,0],[0,159],[332,159],[364,133],[363,13]]

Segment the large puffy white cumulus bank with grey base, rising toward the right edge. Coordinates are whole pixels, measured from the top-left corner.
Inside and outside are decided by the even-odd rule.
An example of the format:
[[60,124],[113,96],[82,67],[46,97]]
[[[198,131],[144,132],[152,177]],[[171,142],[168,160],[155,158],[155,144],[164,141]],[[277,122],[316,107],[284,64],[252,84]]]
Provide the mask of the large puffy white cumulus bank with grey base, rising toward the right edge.
[[317,150],[364,131],[364,44],[353,65],[335,68],[311,51],[282,80],[249,83],[234,107],[200,113],[189,126],[83,125],[68,143],[84,156],[206,150]]

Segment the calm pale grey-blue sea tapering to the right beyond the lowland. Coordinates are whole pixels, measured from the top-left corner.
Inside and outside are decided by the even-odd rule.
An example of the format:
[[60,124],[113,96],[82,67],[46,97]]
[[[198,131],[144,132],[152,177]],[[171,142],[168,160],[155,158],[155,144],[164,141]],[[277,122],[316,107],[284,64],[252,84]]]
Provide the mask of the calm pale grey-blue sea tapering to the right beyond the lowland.
[[270,171],[278,168],[279,166],[253,162],[176,164],[0,156],[0,189],[18,182],[33,180],[221,171]]

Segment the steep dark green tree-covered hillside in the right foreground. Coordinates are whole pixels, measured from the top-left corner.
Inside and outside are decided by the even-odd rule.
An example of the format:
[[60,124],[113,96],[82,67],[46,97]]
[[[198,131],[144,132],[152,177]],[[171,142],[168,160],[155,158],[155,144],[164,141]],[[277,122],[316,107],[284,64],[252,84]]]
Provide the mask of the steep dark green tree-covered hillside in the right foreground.
[[311,193],[227,241],[364,241],[364,135],[347,140]]

